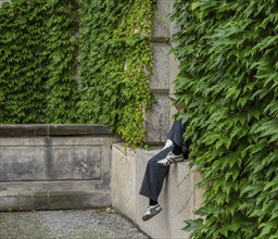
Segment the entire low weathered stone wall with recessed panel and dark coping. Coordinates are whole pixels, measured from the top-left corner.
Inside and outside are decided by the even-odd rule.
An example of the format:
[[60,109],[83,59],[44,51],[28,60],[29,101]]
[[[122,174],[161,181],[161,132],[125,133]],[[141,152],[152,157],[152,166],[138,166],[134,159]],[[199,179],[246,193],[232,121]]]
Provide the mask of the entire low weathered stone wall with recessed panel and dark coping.
[[0,211],[111,205],[102,125],[0,125]]

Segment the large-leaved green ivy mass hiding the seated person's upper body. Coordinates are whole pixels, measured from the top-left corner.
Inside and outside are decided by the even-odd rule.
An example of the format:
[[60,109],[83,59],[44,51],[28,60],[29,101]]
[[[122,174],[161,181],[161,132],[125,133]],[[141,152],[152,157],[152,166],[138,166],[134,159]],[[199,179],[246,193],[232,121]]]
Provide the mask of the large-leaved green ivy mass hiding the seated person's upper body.
[[193,238],[278,238],[278,2],[178,0],[179,117],[206,189]]

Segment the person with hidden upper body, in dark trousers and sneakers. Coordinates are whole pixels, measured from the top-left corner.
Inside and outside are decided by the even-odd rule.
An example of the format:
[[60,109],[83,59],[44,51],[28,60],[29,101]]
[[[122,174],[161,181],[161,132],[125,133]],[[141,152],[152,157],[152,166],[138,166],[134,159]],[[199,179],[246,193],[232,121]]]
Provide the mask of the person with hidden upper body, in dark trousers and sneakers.
[[182,135],[188,123],[174,122],[165,147],[149,160],[139,193],[149,198],[149,206],[142,219],[148,221],[162,211],[157,202],[169,165],[188,159],[190,141],[184,142]]

